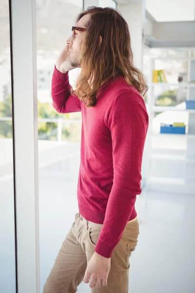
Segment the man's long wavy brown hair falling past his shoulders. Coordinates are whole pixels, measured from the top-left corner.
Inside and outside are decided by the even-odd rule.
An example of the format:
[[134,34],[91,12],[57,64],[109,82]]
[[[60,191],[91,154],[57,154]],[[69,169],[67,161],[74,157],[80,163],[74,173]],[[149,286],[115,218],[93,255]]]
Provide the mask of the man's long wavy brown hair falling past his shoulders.
[[[130,33],[121,14],[110,7],[91,6],[77,17],[77,22],[86,14],[91,17],[81,45],[79,63],[82,68],[76,81],[78,95],[86,107],[96,105],[96,96],[102,82],[123,76],[143,96],[148,90],[142,73],[133,65]],[[99,45],[99,36],[102,37]],[[91,83],[88,83],[91,80]]]

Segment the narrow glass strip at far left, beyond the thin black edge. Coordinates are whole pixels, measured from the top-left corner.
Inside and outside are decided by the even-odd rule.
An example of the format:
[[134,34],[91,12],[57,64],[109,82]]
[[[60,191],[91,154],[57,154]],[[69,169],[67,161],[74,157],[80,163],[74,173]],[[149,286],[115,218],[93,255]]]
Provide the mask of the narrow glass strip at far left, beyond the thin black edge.
[[0,9],[0,292],[16,292],[9,1]]

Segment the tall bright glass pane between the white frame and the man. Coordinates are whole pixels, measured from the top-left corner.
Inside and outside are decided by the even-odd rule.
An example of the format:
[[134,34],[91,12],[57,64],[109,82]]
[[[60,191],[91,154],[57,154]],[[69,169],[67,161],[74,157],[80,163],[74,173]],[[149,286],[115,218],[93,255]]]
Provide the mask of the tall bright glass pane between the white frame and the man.
[[[59,114],[52,105],[56,60],[82,10],[82,0],[37,0],[40,292],[78,212],[81,112]],[[52,20],[52,21],[51,21]],[[79,70],[69,72],[74,86]]]

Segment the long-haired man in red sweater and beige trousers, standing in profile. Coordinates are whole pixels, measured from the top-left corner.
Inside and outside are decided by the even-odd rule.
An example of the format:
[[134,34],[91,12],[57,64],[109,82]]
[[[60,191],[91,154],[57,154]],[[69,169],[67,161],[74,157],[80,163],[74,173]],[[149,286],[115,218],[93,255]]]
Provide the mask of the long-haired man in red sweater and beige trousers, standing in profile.
[[[82,68],[73,90],[68,71]],[[127,293],[137,245],[135,202],[148,129],[147,91],[133,65],[129,29],[112,8],[79,14],[52,77],[59,113],[82,112],[78,208],[43,293]],[[68,200],[68,199],[67,199]]]

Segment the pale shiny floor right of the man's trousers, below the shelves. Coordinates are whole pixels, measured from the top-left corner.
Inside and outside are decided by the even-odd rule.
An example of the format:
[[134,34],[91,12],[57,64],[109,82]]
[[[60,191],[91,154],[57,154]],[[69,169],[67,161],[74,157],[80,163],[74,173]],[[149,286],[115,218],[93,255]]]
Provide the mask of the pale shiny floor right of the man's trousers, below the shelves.
[[195,195],[144,192],[139,204],[140,237],[129,291],[194,293]]

